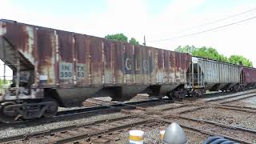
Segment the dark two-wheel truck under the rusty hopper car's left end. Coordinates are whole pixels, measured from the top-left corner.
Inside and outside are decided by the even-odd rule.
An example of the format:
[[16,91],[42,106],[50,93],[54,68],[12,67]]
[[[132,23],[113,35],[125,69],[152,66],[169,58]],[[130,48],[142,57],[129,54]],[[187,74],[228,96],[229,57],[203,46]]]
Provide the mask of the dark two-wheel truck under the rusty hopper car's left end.
[[0,107],[0,122],[12,123],[19,118],[51,118],[58,112],[58,103],[53,99],[43,99],[42,102],[2,102]]

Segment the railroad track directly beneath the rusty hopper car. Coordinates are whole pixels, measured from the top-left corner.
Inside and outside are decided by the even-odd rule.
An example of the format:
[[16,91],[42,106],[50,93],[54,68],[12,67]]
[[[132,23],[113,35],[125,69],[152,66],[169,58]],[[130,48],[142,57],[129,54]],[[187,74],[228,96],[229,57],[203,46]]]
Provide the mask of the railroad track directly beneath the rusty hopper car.
[[111,102],[111,105],[107,106],[93,106],[93,107],[85,107],[81,109],[74,109],[74,110],[63,110],[58,111],[54,118],[42,118],[36,120],[26,120],[26,121],[18,121],[14,123],[0,123],[0,130],[6,129],[8,127],[21,127],[21,126],[37,126],[44,123],[49,122],[59,122],[65,121],[66,118],[77,118],[79,116],[86,117],[86,116],[94,116],[97,114],[110,114],[118,112],[122,109],[135,109],[136,106],[148,106],[148,105],[161,105],[163,103],[171,103],[173,101],[169,99],[148,99],[146,101],[139,101],[139,102]]

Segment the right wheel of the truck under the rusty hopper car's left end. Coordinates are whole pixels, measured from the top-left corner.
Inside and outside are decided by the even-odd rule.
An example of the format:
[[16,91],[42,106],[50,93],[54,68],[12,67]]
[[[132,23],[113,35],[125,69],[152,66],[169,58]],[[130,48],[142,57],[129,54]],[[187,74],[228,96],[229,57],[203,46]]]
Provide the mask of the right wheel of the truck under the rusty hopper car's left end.
[[46,102],[51,102],[51,104],[47,107],[45,114],[43,114],[43,116],[46,118],[52,118],[58,112],[58,103],[52,98],[46,99]]

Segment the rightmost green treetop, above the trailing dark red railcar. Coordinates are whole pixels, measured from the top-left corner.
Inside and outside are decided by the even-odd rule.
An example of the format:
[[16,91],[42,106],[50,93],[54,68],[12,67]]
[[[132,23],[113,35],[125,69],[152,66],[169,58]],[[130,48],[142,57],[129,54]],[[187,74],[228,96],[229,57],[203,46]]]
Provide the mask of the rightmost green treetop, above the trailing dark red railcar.
[[250,62],[249,59],[242,57],[242,55],[231,55],[229,58],[230,63],[243,66],[253,66],[253,62]]

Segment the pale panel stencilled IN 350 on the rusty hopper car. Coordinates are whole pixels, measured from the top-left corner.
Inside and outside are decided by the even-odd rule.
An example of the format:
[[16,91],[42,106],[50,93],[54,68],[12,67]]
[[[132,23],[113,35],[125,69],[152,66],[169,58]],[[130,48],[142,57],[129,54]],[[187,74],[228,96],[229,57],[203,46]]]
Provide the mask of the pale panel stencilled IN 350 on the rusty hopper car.
[[73,78],[73,63],[59,62],[58,77],[60,80],[67,80]]

